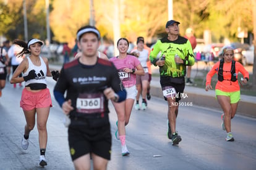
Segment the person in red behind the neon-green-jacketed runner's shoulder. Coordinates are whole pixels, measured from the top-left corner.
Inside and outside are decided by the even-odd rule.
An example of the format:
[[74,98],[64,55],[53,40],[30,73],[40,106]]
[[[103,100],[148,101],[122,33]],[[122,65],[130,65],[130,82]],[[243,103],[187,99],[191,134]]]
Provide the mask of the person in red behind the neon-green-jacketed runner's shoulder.
[[[192,28],[187,28],[186,30],[186,35],[184,36],[185,38],[187,38],[192,46],[192,49],[195,49],[195,46],[197,46],[197,40],[194,36],[193,30]],[[191,75],[191,69],[192,66],[187,66],[187,81],[186,81],[186,85],[192,85],[193,82],[190,80],[190,75]]]

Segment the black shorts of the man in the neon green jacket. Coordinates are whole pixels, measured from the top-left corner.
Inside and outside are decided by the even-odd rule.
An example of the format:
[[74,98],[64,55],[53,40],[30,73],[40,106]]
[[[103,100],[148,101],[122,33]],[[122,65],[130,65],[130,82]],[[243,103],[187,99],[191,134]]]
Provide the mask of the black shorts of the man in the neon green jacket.
[[[161,76],[160,77],[160,84],[161,84],[161,88],[163,89],[164,87],[174,87],[176,90],[176,101],[180,101],[181,100],[181,95],[184,91],[185,88],[185,78],[173,78],[173,77],[164,77]],[[167,100],[166,97],[164,97],[164,100]]]

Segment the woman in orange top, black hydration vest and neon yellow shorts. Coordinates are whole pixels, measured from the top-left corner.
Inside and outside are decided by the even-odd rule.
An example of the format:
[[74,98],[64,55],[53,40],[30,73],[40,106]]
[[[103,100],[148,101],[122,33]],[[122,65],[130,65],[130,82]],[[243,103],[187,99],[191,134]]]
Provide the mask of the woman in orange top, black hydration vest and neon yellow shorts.
[[238,102],[240,100],[240,87],[237,81],[238,72],[244,76],[241,79],[242,83],[246,84],[249,80],[249,72],[244,69],[242,64],[233,60],[234,49],[227,47],[223,49],[223,59],[216,62],[212,69],[207,74],[207,82],[205,83],[205,90],[212,89],[211,77],[218,74],[218,82],[216,83],[215,93],[218,103],[223,109],[221,114],[221,127],[226,130],[226,141],[234,141],[231,133],[231,119],[236,114]]

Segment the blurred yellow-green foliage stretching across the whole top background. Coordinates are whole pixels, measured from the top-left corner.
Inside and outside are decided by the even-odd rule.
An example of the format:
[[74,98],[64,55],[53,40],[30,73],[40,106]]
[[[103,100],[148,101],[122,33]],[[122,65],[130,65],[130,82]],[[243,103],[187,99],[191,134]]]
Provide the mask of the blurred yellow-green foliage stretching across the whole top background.
[[[27,0],[28,36],[46,39],[45,0]],[[51,37],[59,42],[74,44],[79,27],[87,25],[90,19],[90,1],[50,0]],[[125,1],[94,0],[96,27],[101,36],[113,40],[115,7],[119,8],[121,36],[135,41],[137,36],[144,36],[146,41],[153,41],[165,33],[168,20],[168,1]],[[252,32],[252,1],[241,0],[175,0],[173,15],[181,22],[180,32],[194,28],[197,38],[203,38],[204,30],[211,30],[213,42],[223,38],[238,41],[237,28]],[[7,38],[23,38],[22,0],[0,0],[0,34]]]

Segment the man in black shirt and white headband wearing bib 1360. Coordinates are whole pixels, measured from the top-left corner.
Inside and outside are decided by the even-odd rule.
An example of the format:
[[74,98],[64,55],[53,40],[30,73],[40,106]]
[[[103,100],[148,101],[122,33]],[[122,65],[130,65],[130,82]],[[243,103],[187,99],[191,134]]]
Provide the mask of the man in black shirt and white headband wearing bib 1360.
[[[100,32],[85,26],[77,31],[82,56],[64,64],[54,96],[70,117],[69,148],[75,169],[106,169],[111,155],[108,100],[126,100],[116,67],[98,58]],[[66,97],[64,97],[64,93]]]

